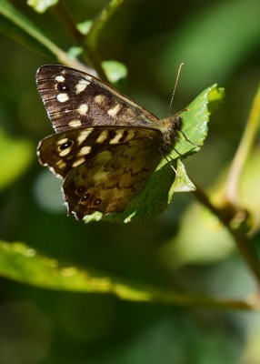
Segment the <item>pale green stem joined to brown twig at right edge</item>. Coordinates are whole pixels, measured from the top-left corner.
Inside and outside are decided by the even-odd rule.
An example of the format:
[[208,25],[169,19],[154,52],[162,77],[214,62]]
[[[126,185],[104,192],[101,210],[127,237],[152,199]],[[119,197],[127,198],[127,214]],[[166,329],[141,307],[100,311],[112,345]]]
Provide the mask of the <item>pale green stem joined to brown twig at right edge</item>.
[[[259,126],[260,116],[260,87],[256,93],[245,132],[235,153],[229,176],[226,182],[224,203],[221,207],[216,207],[199,187],[196,187],[195,197],[212,213],[219,218],[235,239],[236,246],[240,251],[248,267],[253,272],[260,288],[260,262],[257,253],[250,240],[247,238],[245,230],[248,222],[245,209],[239,207],[237,203],[238,187],[241,174],[245,169],[246,160],[255,142],[255,136]],[[243,223],[245,223],[243,225]]]

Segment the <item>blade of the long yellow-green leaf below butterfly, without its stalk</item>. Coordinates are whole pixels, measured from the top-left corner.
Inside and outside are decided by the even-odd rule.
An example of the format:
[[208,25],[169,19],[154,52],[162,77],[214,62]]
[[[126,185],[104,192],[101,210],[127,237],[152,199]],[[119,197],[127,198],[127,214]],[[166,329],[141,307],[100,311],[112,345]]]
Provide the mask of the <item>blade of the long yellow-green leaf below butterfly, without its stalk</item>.
[[151,294],[94,269],[62,266],[20,242],[0,241],[0,276],[38,288],[74,292],[114,293],[130,300],[151,300]]

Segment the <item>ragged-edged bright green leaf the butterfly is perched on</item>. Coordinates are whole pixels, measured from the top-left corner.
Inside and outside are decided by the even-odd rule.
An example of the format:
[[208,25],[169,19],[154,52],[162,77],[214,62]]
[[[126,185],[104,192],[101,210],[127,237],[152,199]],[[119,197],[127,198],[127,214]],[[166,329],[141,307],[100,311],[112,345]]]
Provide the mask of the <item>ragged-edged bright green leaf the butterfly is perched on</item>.
[[185,167],[180,161],[180,155],[183,158],[200,150],[207,136],[209,108],[211,104],[218,104],[223,97],[223,88],[218,88],[216,85],[210,86],[182,112],[184,135],[180,135],[170,155],[171,165],[174,165],[177,173],[164,158],[148,180],[145,189],[131,201],[123,213],[103,216],[96,212],[85,217],[85,222],[97,221],[101,218],[111,222],[129,222],[154,217],[165,210],[175,192],[194,190],[195,187],[187,177]]

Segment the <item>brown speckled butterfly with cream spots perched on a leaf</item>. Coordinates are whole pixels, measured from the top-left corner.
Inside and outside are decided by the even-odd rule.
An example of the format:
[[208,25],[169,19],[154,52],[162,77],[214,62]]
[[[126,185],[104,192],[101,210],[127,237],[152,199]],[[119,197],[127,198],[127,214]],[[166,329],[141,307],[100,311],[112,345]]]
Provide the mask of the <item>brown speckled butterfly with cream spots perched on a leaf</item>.
[[65,66],[41,66],[37,88],[55,135],[37,148],[63,180],[68,214],[122,212],[175,146],[181,117],[159,120],[115,88]]

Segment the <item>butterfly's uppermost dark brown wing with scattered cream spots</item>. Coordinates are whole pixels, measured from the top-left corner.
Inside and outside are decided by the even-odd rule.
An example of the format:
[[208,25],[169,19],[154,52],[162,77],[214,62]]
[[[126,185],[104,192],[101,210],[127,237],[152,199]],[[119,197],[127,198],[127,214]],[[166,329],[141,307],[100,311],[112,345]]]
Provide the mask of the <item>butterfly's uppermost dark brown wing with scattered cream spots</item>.
[[152,126],[157,117],[94,76],[65,66],[42,66],[38,91],[55,131],[102,125]]

